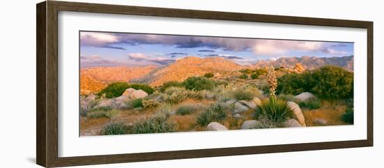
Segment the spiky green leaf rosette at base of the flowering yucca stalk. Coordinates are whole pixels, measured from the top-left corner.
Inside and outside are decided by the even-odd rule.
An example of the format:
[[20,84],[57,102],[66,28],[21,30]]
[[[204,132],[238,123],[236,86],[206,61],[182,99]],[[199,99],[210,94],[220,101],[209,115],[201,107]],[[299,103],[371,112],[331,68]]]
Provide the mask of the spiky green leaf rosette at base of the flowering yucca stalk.
[[290,109],[288,102],[270,97],[256,107],[256,118],[265,117],[274,123],[282,123],[293,116],[293,110]]

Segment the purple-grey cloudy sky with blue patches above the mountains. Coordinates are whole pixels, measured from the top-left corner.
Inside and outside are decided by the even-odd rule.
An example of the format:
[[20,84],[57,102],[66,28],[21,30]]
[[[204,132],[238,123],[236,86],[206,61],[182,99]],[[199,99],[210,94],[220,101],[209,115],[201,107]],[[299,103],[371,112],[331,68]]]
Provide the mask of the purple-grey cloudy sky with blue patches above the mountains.
[[353,43],[80,32],[80,66],[161,66],[185,56],[220,56],[241,65],[301,56],[350,56]]

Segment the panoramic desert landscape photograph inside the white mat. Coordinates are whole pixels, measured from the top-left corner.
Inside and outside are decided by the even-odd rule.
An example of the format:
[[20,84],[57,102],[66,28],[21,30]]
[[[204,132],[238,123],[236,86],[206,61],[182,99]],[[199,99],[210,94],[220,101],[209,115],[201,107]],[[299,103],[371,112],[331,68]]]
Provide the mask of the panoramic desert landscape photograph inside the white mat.
[[353,125],[353,43],[80,31],[80,136]]

